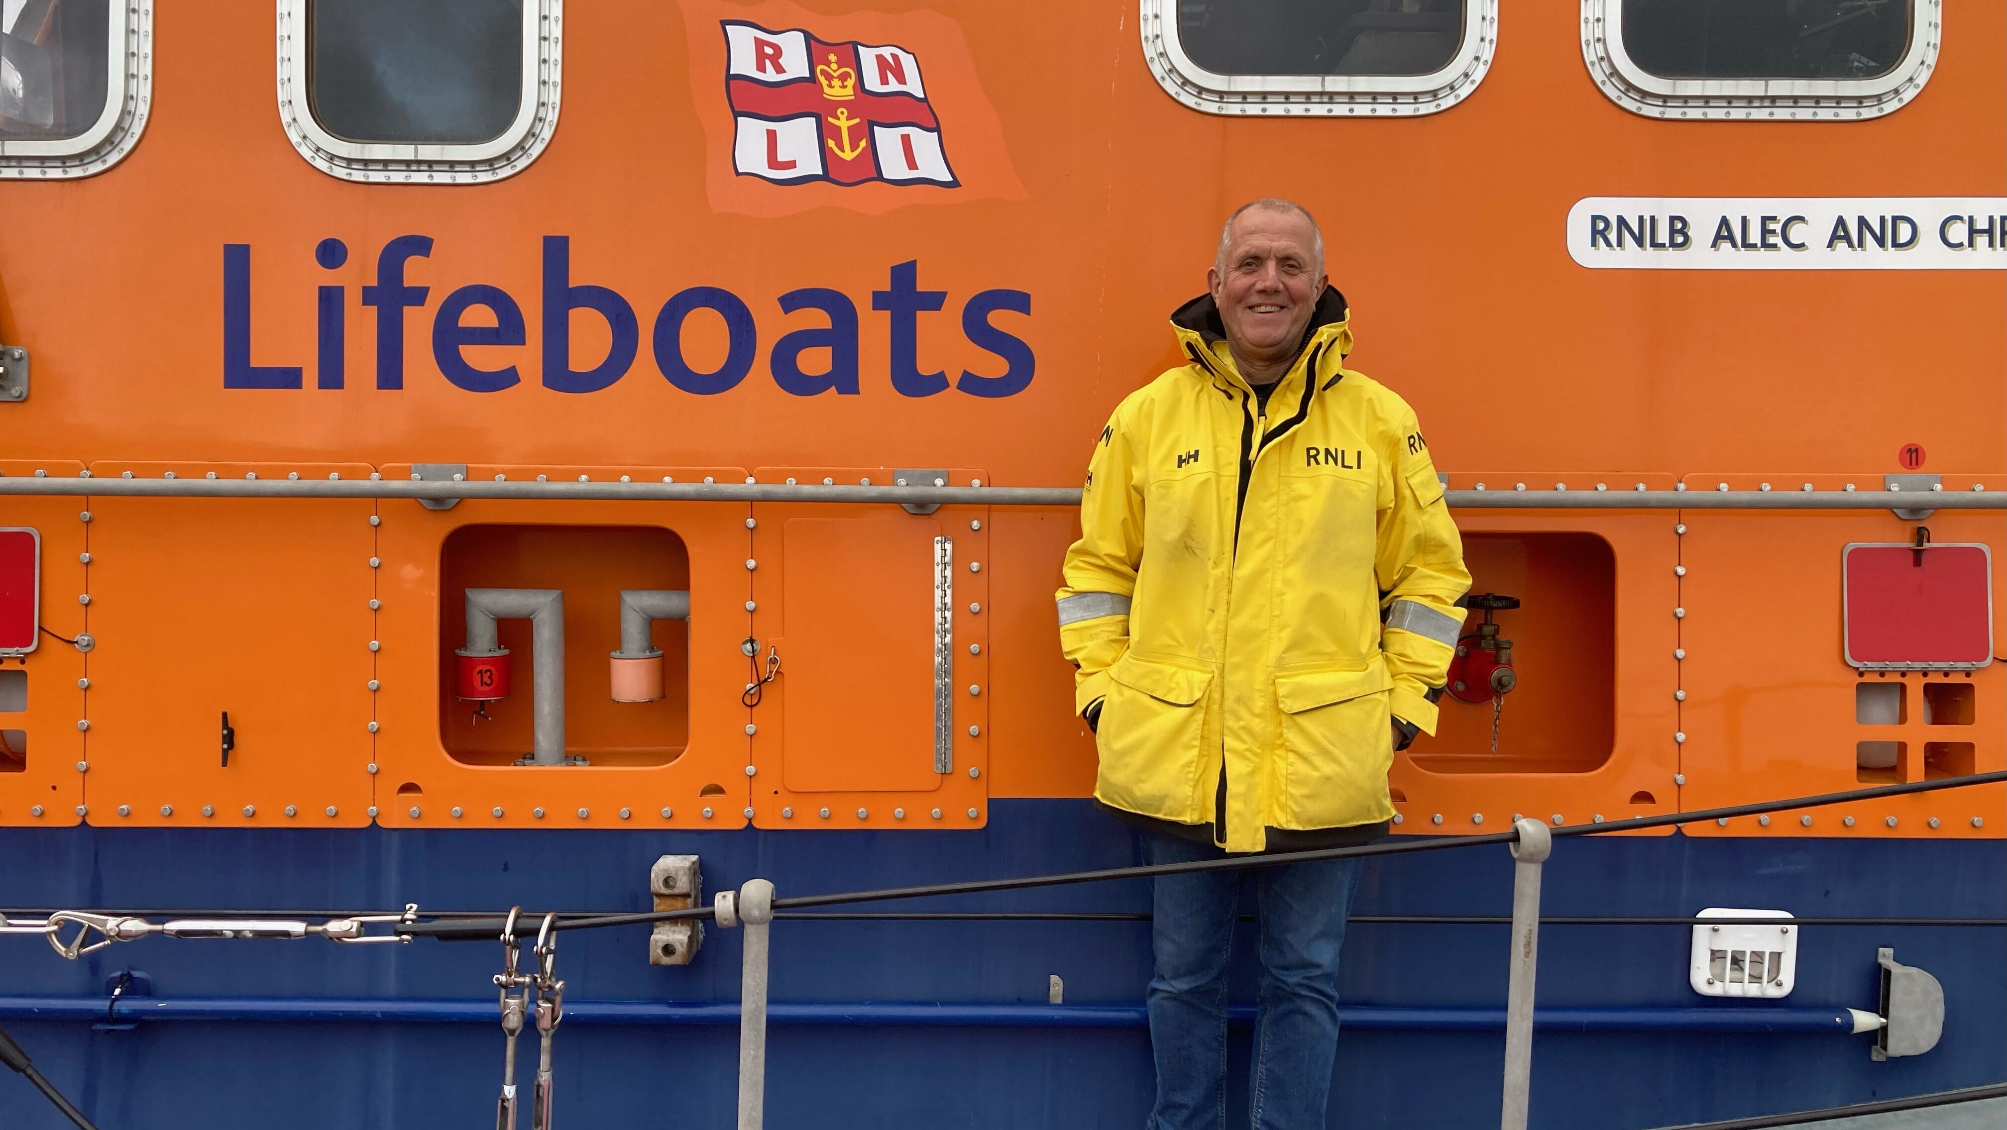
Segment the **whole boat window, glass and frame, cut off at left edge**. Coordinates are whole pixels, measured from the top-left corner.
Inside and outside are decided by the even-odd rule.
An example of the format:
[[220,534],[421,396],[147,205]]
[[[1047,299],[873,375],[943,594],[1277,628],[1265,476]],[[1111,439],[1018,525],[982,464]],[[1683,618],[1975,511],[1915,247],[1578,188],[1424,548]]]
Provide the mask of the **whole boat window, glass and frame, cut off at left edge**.
[[[86,177],[145,126],[153,0],[0,0],[0,177]],[[151,46],[151,44],[149,44]]]

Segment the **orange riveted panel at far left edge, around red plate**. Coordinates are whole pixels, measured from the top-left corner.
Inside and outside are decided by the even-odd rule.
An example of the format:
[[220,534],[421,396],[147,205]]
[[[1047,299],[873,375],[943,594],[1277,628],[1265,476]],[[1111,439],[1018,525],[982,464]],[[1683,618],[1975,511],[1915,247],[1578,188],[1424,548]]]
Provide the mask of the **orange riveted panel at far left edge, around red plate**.
[[[0,460],[0,476],[74,476],[68,460]],[[0,526],[36,532],[40,592],[30,616],[34,646],[0,656],[0,825],[74,825],[82,817],[86,690],[90,652],[84,582],[90,508],[84,498],[0,498]]]

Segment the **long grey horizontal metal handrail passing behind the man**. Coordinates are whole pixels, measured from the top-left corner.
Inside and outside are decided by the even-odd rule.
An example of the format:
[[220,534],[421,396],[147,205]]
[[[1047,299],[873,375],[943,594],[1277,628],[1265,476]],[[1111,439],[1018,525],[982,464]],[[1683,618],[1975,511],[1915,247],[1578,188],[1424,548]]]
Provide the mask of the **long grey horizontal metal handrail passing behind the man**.
[[[787,482],[538,482],[369,478],[0,476],[0,496],[413,498],[540,502],[849,502],[907,506],[1080,506],[1060,486],[849,486]],[[1453,510],[2007,510],[2007,490],[1449,490]]]

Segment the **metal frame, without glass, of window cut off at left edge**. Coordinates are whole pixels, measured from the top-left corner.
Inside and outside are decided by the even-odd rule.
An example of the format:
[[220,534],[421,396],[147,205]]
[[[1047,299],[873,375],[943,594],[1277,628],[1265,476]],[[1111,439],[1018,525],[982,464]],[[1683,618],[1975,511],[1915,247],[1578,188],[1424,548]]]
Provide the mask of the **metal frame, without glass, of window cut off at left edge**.
[[74,181],[118,165],[153,108],[153,0],[104,0],[104,112],[64,138],[0,138],[0,181]]

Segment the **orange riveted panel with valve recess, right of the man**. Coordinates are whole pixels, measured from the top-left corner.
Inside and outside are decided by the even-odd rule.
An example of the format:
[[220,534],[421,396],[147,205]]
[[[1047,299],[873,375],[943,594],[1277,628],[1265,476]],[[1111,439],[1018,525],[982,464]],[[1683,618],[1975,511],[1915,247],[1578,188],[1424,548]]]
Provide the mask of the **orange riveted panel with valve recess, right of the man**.
[[[1624,492],[1650,474],[1453,474],[1453,490]],[[1523,484],[1523,488],[1521,488]],[[1664,510],[1457,510],[1473,590],[1517,596],[1495,620],[1515,642],[1517,684],[1443,694],[1435,737],[1395,757],[1401,833],[1489,833],[1515,815],[1594,823],[1676,811],[1672,650],[1676,518]],[[1483,614],[1463,622],[1475,644]],[[1491,727],[1497,721],[1497,751]],[[1437,823],[1441,817],[1441,823]],[[1668,835],[1646,833],[1646,835]]]

